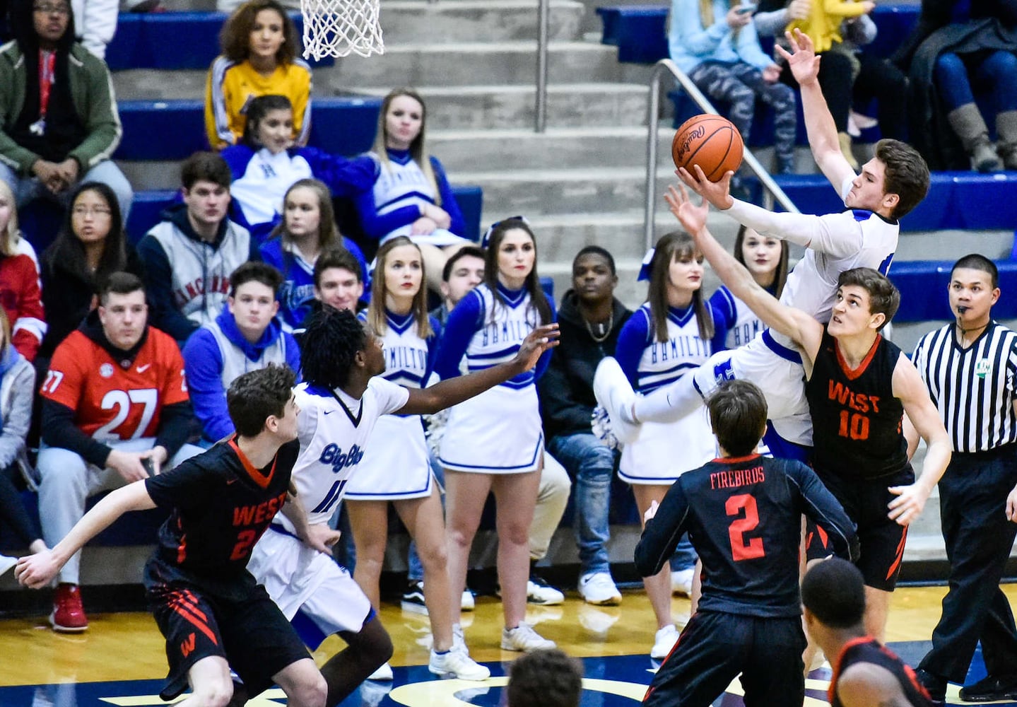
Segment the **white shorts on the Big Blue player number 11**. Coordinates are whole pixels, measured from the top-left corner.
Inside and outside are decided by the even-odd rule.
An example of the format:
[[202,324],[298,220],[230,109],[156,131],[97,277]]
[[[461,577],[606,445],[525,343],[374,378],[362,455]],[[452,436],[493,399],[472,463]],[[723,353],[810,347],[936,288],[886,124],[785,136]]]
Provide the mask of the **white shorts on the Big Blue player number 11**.
[[340,631],[360,633],[371,602],[346,568],[272,525],[254,545],[247,570],[314,650]]

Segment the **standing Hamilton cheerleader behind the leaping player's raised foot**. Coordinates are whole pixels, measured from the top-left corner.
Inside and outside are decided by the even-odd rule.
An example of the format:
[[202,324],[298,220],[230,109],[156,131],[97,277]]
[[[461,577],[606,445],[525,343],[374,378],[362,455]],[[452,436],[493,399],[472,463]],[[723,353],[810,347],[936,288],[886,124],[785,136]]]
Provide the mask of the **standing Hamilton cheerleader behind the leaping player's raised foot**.
[[[703,255],[687,234],[674,231],[657,241],[649,278],[647,301],[621,329],[614,354],[633,388],[644,395],[706,361],[715,318],[701,289]],[[618,477],[632,485],[642,518],[682,472],[702,466],[715,452],[703,408],[677,422],[645,424],[639,439],[622,450]],[[643,578],[643,584],[658,628],[650,656],[664,658],[678,638],[671,617],[671,577],[664,569]]]

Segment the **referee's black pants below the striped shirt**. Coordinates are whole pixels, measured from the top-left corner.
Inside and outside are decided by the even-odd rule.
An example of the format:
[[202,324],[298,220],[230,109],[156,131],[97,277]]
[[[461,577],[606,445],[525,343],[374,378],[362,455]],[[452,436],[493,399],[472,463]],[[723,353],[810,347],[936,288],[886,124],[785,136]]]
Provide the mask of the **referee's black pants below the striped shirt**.
[[950,588],[933,631],[933,649],[919,668],[963,683],[977,643],[991,675],[1017,670],[1017,628],[1000,579],[1017,524],[1006,517],[1007,495],[1017,484],[1017,445],[954,454],[940,479],[943,538]]

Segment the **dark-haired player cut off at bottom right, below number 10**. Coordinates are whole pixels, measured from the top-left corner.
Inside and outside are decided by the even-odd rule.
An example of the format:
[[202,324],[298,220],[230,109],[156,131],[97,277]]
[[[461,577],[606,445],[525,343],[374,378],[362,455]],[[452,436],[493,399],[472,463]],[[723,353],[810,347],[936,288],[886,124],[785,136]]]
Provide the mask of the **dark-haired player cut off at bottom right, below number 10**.
[[863,582],[837,557],[817,563],[801,581],[805,631],[833,664],[830,707],[932,707],[911,666],[865,635]]

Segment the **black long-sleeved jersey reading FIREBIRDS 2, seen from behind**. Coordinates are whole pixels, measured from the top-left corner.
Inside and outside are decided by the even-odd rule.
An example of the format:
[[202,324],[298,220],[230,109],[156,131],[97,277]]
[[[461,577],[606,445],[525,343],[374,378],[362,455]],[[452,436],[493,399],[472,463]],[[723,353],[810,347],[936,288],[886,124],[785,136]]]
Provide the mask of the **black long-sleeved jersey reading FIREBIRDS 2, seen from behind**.
[[802,514],[826,530],[833,551],[855,558],[854,524],[804,464],[759,455],[715,459],[667,490],[636,547],[636,568],[655,575],[687,532],[703,561],[700,610],[797,616]]

